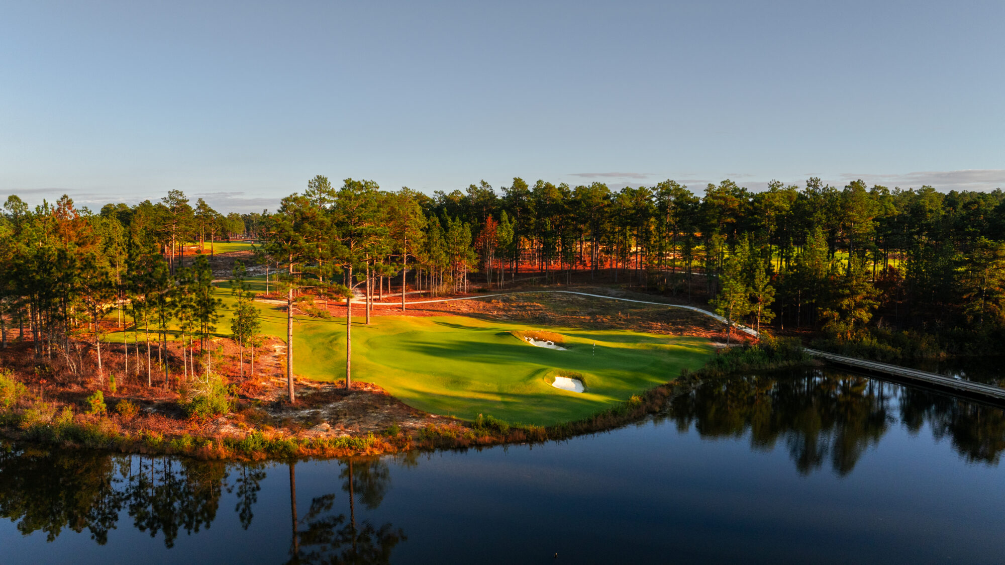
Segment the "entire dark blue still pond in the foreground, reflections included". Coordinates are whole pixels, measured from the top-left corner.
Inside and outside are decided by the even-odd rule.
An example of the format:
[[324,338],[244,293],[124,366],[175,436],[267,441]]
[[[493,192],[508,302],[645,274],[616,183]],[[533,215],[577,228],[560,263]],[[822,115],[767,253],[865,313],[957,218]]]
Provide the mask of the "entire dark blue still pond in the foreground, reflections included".
[[829,369],[533,446],[257,464],[9,447],[0,562],[1001,563],[1003,449],[1001,409]]

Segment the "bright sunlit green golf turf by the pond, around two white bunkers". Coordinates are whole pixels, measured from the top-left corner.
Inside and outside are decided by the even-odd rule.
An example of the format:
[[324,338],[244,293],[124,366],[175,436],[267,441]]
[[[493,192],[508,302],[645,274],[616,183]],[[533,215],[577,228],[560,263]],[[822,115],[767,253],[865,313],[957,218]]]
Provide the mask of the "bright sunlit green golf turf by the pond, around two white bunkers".
[[[255,280],[255,286],[264,281]],[[217,333],[229,333],[229,289]],[[262,309],[262,329],[285,338],[285,314]],[[362,308],[362,305],[360,305]],[[713,353],[703,338],[630,331],[538,327],[443,316],[353,318],[353,377],[373,382],[406,404],[428,412],[473,419],[492,415],[513,423],[551,425],[577,420],[623,402],[632,394],[697,369]],[[567,351],[532,346],[514,331],[562,334]],[[293,370],[321,381],[345,377],[346,321],[297,317]],[[122,334],[112,337],[121,341]],[[596,354],[593,343],[596,342]],[[583,375],[586,391],[551,386],[551,378]]]

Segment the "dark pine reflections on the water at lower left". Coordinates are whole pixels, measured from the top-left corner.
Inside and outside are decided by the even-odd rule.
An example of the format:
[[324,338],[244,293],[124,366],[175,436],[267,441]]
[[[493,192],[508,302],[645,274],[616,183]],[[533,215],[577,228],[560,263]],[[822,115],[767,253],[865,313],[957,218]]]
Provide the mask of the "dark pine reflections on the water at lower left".
[[[406,539],[391,524],[357,520],[356,504],[380,506],[390,470],[379,458],[340,461],[341,490],[315,497],[308,512],[296,512],[296,464],[288,463],[292,543],[290,563],[386,563]],[[123,515],[133,527],[162,537],[172,548],[179,534],[208,529],[221,495],[233,493],[234,512],[247,530],[266,478],[262,463],[227,464],[167,456],[108,455],[86,451],[0,450],[0,517],[15,522],[22,535],[45,532],[53,541],[64,529],[86,530],[98,545],[109,540]],[[341,499],[341,503],[340,503]],[[336,512],[343,504],[343,512]]]

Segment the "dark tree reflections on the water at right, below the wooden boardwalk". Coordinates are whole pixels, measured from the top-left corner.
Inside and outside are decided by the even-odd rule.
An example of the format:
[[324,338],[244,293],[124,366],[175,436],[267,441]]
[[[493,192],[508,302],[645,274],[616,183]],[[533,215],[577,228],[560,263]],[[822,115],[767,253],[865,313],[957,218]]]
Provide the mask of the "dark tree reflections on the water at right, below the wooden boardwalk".
[[839,476],[854,468],[895,423],[918,432],[928,423],[968,460],[997,464],[1005,448],[1005,412],[925,390],[829,370],[770,373],[710,381],[670,402],[666,418],[701,437],[743,437],[751,448],[785,444],[799,473],[829,460]]

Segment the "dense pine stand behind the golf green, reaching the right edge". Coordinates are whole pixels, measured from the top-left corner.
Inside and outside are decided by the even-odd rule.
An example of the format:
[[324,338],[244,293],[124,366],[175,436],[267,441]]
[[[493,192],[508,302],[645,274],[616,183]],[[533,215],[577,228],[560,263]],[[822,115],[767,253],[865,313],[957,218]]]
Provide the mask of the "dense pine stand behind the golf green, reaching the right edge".
[[[350,209],[359,215],[347,219]],[[488,287],[603,280],[711,301],[731,321],[822,332],[880,357],[986,352],[1005,322],[1001,190],[860,180],[837,188],[810,178],[762,192],[726,180],[695,194],[672,180],[614,191],[515,178],[499,192],[481,181],[429,197],[352,179],[336,190],[317,177],[279,214],[343,218],[340,235],[305,227],[305,241],[362,245],[356,268],[381,295],[388,277],[406,272],[430,293],[466,290],[471,273]],[[255,225],[267,235],[275,217]]]

